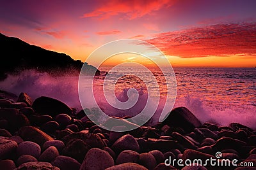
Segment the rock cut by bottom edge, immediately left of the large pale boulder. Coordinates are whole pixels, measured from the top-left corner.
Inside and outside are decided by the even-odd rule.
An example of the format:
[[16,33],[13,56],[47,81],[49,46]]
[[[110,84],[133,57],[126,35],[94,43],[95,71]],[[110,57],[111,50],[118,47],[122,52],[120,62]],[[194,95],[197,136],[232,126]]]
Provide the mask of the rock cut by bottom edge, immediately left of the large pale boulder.
[[51,164],[52,166],[59,167],[61,170],[79,170],[81,167],[81,164],[76,159],[62,155],[56,157]]

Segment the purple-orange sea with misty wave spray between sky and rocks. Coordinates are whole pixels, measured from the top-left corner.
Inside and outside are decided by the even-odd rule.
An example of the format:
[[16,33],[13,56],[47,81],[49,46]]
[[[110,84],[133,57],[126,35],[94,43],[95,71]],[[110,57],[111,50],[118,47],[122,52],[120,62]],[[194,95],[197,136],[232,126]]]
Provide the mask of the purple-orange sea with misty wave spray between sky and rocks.
[[[174,71],[177,79],[175,107],[186,106],[203,123],[210,121],[228,125],[231,122],[239,122],[256,129],[255,68],[174,68]],[[86,80],[86,77],[84,78]],[[128,81],[131,82],[127,84],[137,86],[136,89],[140,91],[139,104],[129,110],[129,114],[136,115],[141,111],[143,103],[147,101],[147,90],[140,84],[134,83],[134,80]],[[82,108],[77,83],[78,77],[68,75],[52,77],[47,73],[28,70],[16,76],[10,75],[6,80],[0,81],[0,89],[17,96],[20,92],[26,92],[33,100],[40,96],[53,97],[79,111]],[[120,83],[121,85],[116,86],[116,96],[120,101],[127,101],[128,88],[122,81]],[[102,94],[99,92],[95,96],[102,97]],[[88,106],[93,108],[90,101],[92,99],[88,96]],[[109,112],[114,111],[104,102],[100,103],[100,108]],[[156,111],[153,123],[157,122],[159,112],[159,110]],[[123,111],[122,115],[127,113]]]

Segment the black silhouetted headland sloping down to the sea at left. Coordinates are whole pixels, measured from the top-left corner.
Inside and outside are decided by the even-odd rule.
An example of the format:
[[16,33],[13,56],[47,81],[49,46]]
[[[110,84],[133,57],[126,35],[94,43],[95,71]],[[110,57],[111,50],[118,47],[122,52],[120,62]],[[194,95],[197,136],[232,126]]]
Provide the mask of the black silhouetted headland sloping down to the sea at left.
[[[8,73],[19,73],[24,69],[36,69],[36,71],[47,72],[60,76],[61,74],[73,74],[78,76],[83,62],[73,60],[65,53],[58,53],[45,50],[39,46],[28,43],[13,37],[4,36],[0,33],[1,63],[0,80],[4,80]],[[84,67],[84,74],[100,74],[95,67],[88,65]]]

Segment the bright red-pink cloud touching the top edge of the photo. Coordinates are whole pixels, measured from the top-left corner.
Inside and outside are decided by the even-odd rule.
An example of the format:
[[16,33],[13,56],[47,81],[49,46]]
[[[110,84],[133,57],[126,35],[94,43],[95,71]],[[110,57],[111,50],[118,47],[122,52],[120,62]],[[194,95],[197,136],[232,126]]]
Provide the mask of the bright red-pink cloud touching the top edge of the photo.
[[134,18],[143,17],[152,11],[160,10],[163,7],[171,6],[173,0],[154,0],[154,1],[120,1],[120,0],[109,0],[105,3],[99,3],[97,9],[84,13],[83,17],[99,17],[105,19],[111,16],[125,15],[130,20]]

